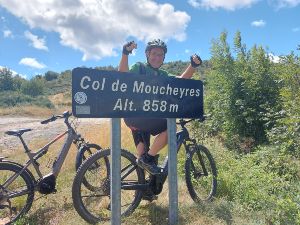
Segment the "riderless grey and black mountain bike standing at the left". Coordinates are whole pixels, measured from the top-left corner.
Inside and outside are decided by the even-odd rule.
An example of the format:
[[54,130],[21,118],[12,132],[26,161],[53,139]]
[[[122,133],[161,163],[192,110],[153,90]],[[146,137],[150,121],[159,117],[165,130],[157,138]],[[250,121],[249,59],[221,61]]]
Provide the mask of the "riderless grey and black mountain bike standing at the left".
[[[73,122],[69,122],[72,113],[66,111],[62,115],[52,116],[51,118],[42,121],[42,124],[53,122],[56,119],[64,119],[67,130],[58,135],[52,141],[36,152],[32,152],[26,145],[22,134],[31,131],[31,129],[20,129],[7,131],[7,135],[18,137],[24,147],[25,153],[29,160],[21,165],[17,162],[7,160],[5,157],[0,157],[0,224],[11,224],[20,216],[24,215],[31,208],[34,200],[34,192],[39,191],[42,194],[50,194],[56,192],[56,178],[70,150],[72,142],[77,147],[76,168],[92,153],[101,150],[97,144],[90,144],[76,132],[76,126]],[[43,175],[40,171],[40,163],[38,160],[44,156],[49,146],[66,136],[65,142],[59,155],[54,159],[52,171]],[[109,166],[108,160],[106,160]],[[36,171],[36,177],[28,169],[32,165]],[[97,164],[94,164],[97,166]],[[93,190],[88,181],[83,178],[83,184],[86,188]]]

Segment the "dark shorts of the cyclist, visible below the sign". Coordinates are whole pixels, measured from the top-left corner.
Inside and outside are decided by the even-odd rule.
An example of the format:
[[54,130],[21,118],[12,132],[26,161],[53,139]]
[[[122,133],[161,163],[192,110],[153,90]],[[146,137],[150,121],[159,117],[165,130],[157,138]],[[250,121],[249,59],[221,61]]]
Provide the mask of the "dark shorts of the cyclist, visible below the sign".
[[125,124],[131,129],[134,143],[140,142],[150,146],[150,135],[158,135],[167,130],[166,119],[124,118]]

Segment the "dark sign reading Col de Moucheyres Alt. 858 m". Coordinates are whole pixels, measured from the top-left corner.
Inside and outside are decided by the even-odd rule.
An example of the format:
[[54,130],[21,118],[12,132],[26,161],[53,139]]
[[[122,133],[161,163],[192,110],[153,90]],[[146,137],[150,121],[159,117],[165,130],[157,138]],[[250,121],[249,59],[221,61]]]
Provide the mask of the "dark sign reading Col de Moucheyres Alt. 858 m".
[[75,68],[72,110],[82,118],[200,118],[199,80]]

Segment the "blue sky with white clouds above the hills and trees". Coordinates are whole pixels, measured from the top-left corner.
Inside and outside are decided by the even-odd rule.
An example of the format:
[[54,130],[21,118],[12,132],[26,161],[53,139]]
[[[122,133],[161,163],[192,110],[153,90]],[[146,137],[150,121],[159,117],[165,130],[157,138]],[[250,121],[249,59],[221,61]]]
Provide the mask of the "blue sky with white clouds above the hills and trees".
[[[0,69],[31,79],[47,71],[118,66],[122,46],[145,61],[154,38],[168,45],[165,62],[211,58],[211,44],[237,31],[247,49],[277,56],[300,45],[300,0],[0,0]],[[179,71],[180,74],[182,71]]]

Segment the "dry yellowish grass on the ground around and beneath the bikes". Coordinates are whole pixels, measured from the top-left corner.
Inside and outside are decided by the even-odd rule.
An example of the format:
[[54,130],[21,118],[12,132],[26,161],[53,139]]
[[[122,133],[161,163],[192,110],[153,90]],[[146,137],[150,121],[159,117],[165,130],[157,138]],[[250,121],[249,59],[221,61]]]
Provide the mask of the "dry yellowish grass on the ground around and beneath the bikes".
[[[102,124],[95,123],[94,125],[80,125],[80,132],[91,143],[97,143],[100,146],[107,148],[110,145],[110,123]],[[48,140],[39,140],[32,144],[31,148],[35,149],[43,146]],[[122,148],[134,151],[134,143],[130,135],[129,129],[122,123]],[[52,146],[48,155],[43,159],[41,165],[47,163],[49,158],[53,158],[60,150],[60,143]],[[211,141],[208,145],[214,156],[217,156],[219,148],[222,148],[216,141]],[[25,161],[25,154],[20,154],[21,149],[10,153],[10,158],[19,162]],[[166,150],[164,150],[164,154]],[[33,206],[29,213],[24,218],[20,219],[16,224],[19,225],[84,225],[87,224],[74,210],[71,188],[73,178],[75,176],[74,162],[76,157],[75,147],[67,156],[62,171],[57,180],[57,193],[42,196],[36,193]],[[179,155],[183,157],[183,155]],[[42,168],[42,171],[49,172],[49,168]],[[178,224],[192,225],[218,225],[218,224],[261,224],[256,221],[252,213],[249,214],[246,210],[240,210],[239,207],[225,199],[216,199],[211,203],[195,204],[187,191],[184,177],[179,177],[179,212]],[[41,198],[40,198],[41,197]],[[146,225],[166,225],[168,224],[168,182],[165,183],[163,192],[159,195],[157,201],[148,203],[142,201],[135,212],[122,220],[122,224],[146,224]],[[110,223],[107,223],[110,224]]]

